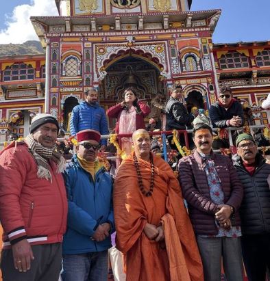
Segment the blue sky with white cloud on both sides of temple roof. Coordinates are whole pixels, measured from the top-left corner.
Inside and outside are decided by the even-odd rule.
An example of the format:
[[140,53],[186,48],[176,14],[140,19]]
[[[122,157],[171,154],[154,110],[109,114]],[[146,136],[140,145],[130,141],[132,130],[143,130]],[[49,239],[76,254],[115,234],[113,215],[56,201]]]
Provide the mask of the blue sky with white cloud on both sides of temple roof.
[[[146,0],[142,0],[146,1]],[[58,14],[54,0],[3,0],[0,44],[38,40],[30,16]],[[193,0],[192,11],[221,9],[214,43],[270,40],[270,0]]]

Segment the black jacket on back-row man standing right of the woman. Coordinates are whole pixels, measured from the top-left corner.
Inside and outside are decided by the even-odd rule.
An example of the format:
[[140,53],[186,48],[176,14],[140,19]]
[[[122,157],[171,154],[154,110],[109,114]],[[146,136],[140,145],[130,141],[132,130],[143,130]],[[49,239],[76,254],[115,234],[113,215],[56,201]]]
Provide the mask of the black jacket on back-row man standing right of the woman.
[[186,129],[186,126],[191,127],[193,120],[193,114],[188,113],[186,107],[171,96],[166,105],[166,130]]

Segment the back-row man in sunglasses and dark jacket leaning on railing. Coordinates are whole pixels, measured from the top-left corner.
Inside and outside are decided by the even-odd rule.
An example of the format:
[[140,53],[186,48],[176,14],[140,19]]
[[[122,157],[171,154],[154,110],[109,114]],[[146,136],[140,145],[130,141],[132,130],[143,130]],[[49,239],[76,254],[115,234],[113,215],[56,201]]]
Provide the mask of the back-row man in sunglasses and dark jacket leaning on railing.
[[210,106],[209,116],[214,127],[243,126],[243,108],[241,103],[232,97],[230,87],[223,86],[220,89],[219,100]]

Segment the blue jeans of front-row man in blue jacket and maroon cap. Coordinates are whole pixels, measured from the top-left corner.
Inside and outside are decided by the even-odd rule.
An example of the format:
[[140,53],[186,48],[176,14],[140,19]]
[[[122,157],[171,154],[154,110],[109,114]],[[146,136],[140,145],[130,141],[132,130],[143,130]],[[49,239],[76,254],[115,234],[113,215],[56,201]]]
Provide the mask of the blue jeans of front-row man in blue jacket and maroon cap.
[[63,255],[63,281],[108,281],[108,250]]

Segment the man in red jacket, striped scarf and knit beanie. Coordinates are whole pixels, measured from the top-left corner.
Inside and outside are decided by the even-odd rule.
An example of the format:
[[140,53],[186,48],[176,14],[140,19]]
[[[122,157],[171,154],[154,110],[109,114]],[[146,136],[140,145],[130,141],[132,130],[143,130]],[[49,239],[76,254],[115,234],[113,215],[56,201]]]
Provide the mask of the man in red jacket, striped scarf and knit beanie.
[[12,142],[0,153],[4,281],[59,278],[67,201],[58,130],[56,118],[40,113],[24,142]]

